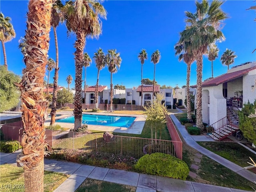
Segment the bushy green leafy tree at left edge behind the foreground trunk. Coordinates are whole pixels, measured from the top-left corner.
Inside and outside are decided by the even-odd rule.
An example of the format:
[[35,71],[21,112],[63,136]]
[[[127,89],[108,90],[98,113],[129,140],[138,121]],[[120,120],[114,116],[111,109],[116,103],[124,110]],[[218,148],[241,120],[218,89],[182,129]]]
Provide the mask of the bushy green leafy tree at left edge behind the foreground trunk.
[[4,65],[0,66],[0,112],[15,107],[20,93],[14,82],[20,82],[20,76],[10,72]]

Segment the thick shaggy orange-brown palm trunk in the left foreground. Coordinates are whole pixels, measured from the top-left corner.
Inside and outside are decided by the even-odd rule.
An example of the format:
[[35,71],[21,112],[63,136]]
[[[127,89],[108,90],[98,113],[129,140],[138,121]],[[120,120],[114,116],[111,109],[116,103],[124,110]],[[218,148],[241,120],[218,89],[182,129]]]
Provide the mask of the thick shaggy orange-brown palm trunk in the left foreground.
[[22,70],[19,86],[22,102],[22,153],[17,156],[17,165],[24,165],[26,192],[44,191],[44,149],[48,101],[43,96],[44,73],[49,49],[51,0],[30,0],[26,39],[26,68]]

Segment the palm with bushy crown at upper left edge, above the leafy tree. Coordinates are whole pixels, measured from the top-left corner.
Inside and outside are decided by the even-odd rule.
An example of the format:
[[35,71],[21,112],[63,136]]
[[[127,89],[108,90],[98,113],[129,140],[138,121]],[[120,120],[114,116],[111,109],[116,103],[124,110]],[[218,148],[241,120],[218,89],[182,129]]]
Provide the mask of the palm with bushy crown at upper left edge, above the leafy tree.
[[6,51],[4,43],[15,38],[16,34],[12,24],[10,23],[10,17],[4,17],[4,14],[0,13],[0,41],[2,43],[3,52],[4,52],[4,66],[6,69],[8,68],[7,59],[6,59]]

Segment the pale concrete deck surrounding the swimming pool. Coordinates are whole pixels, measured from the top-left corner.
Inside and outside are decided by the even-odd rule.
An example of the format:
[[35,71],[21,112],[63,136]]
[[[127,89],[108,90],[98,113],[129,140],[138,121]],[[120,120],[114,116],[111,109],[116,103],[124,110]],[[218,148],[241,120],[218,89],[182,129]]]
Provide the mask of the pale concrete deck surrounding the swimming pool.
[[[72,111],[68,112],[57,112],[56,114],[61,114],[61,116],[56,116],[56,120],[63,119],[69,116],[73,116]],[[83,112],[82,114],[94,114],[94,115],[108,115],[108,116],[124,116],[124,117],[136,117],[132,125],[127,127],[114,127],[114,126],[100,126],[100,125],[88,125],[89,130],[97,130],[97,131],[108,131],[108,132],[118,132],[118,133],[128,133],[128,134],[141,134],[142,129],[144,127],[146,116],[145,115],[131,115],[131,114],[111,114],[110,112]],[[51,118],[48,118],[44,125],[49,126],[50,125]],[[56,124],[65,127],[65,128],[74,128],[73,123],[62,123],[62,122],[56,122]]]

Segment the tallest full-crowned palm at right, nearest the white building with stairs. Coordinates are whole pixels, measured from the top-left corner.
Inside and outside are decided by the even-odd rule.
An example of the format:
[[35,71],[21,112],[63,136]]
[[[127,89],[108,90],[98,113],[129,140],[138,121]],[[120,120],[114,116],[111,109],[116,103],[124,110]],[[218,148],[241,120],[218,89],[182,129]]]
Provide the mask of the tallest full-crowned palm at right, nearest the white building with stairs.
[[203,54],[207,53],[207,47],[216,42],[224,40],[224,35],[220,31],[220,22],[227,18],[220,6],[224,2],[214,0],[209,5],[207,0],[196,1],[196,12],[185,12],[186,28],[180,32],[179,43],[184,44],[185,50],[196,58],[196,126],[203,129],[202,122],[202,68]]

